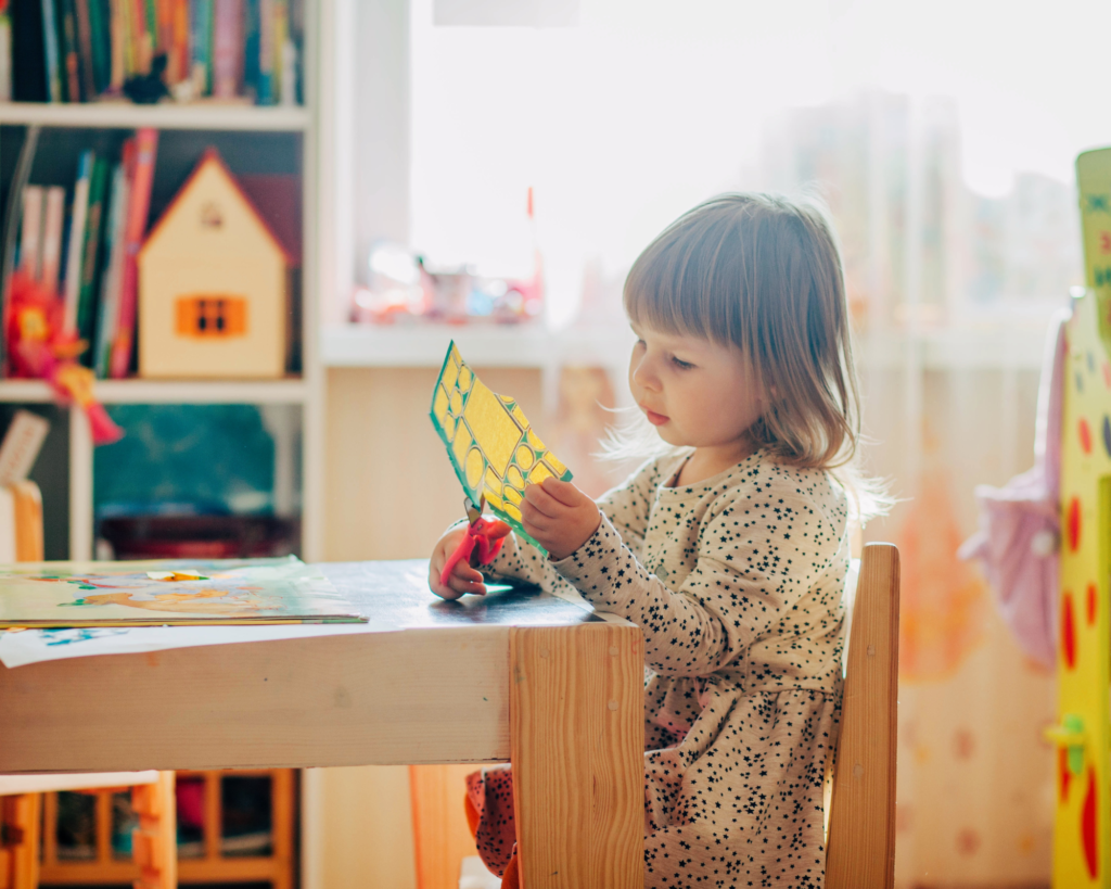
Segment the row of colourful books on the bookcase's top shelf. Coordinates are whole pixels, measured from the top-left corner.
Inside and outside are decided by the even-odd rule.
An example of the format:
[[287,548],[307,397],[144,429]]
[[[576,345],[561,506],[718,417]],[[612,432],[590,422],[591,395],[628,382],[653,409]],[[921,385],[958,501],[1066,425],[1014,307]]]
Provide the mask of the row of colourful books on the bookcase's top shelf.
[[299,103],[297,0],[0,0],[0,101]]

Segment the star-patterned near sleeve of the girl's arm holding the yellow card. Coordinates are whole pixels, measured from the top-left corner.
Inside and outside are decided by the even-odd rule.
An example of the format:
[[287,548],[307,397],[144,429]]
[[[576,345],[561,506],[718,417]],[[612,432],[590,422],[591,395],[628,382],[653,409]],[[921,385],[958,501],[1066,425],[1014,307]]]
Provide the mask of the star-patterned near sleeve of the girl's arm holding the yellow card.
[[551,565],[597,609],[641,628],[645,663],[657,673],[708,676],[742,658],[792,610],[807,621],[794,606],[841,547],[843,520],[808,498],[773,502],[758,521],[731,502],[715,505],[698,535],[698,561],[675,589],[644,568],[608,519]]

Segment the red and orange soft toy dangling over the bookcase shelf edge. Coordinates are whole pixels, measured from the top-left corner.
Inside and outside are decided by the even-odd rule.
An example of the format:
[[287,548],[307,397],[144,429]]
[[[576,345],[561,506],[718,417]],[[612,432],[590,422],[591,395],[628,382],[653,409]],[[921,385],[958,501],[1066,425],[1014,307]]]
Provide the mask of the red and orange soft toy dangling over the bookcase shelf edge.
[[96,444],[110,444],[123,437],[97,401],[92,371],[77,362],[87,343],[74,333],[62,332],[62,300],[22,272],[11,279],[8,307],[8,376],[41,379],[50,383],[63,402],[76,402],[89,418]]

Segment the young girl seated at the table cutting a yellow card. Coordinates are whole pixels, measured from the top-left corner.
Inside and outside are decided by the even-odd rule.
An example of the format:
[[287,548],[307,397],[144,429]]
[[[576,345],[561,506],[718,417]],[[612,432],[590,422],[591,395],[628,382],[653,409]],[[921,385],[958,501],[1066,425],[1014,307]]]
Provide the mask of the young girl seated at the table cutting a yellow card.
[[[633,398],[667,448],[590,500],[548,479],[488,567],[571,585],[644,635],[645,886],[820,887],[859,411],[841,259],[809,204],[710,200],[629,273]],[[658,440],[657,452],[661,449]],[[461,529],[444,598],[483,592]],[[511,775],[469,781],[487,865],[516,885]]]

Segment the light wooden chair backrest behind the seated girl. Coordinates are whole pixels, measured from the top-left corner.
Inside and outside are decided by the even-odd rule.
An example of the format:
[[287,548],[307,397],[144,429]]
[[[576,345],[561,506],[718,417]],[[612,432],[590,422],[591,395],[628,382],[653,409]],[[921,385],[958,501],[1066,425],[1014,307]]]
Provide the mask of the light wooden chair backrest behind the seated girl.
[[827,889],[890,889],[895,863],[899,550],[864,547],[825,841]]

